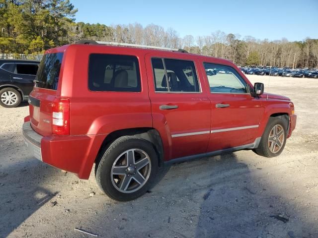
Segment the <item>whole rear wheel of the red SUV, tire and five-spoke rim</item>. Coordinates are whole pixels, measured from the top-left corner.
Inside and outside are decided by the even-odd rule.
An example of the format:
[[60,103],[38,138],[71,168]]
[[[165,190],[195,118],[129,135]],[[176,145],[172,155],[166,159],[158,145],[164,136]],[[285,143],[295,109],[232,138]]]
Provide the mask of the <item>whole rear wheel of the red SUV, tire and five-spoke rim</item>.
[[144,195],[154,183],[158,157],[149,141],[122,136],[109,145],[96,166],[100,189],[114,200],[130,201]]

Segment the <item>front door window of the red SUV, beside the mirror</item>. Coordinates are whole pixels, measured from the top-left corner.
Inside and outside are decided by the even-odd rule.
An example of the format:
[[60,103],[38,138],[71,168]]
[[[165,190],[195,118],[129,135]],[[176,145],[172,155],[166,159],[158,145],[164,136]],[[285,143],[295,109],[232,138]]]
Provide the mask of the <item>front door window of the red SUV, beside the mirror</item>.
[[204,63],[212,93],[246,93],[246,82],[229,66]]

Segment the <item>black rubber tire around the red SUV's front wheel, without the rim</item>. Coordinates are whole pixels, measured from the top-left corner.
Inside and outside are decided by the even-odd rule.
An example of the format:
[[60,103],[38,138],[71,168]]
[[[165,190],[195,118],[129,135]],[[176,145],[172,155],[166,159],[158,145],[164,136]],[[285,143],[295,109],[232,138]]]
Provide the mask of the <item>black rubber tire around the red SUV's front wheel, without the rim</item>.
[[[273,127],[276,125],[279,125],[278,127],[282,128],[284,138],[283,138],[283,141],[280,142],[281,147],[279,148],[279,150],[277,152],[273,153],[270,149],[270,143],[272,144],[273,142],[269,142],[269,136],[270,136],[270,133],[271,133]],[[287,139],[286,130],[287,130],[286,125],[282,119],[269,118],[267,126],[265,128],[265,131],[261,137],[260,143],[256,149],[253,149],[253,151],[260,156],[264,156],[264,157],[268,157],[268,158],[279,156],[282,153],[282,151],[284,150],[284,147],[286,144],[286,139]],[[277,138],[277,140],[278,139],[279,138]],[[274,147],[276,148],[275,143],[274,143]]]

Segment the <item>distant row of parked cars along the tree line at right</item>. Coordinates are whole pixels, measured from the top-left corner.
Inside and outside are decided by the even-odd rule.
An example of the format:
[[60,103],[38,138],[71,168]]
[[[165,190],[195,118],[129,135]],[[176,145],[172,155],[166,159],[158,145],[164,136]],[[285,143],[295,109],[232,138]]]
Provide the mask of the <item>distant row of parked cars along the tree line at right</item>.
[[285,76],[299,78],[318,78],[318,69],[290,69],[290,68],[250,68],[241,67],[240,70],[245,74]]

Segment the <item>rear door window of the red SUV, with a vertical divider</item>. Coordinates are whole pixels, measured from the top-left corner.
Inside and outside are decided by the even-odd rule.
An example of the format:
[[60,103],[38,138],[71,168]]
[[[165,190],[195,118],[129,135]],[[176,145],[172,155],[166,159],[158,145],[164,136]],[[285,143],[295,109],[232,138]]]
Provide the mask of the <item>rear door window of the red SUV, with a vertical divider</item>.
[[194,62],[152,59],[156,92],[200,92]]

